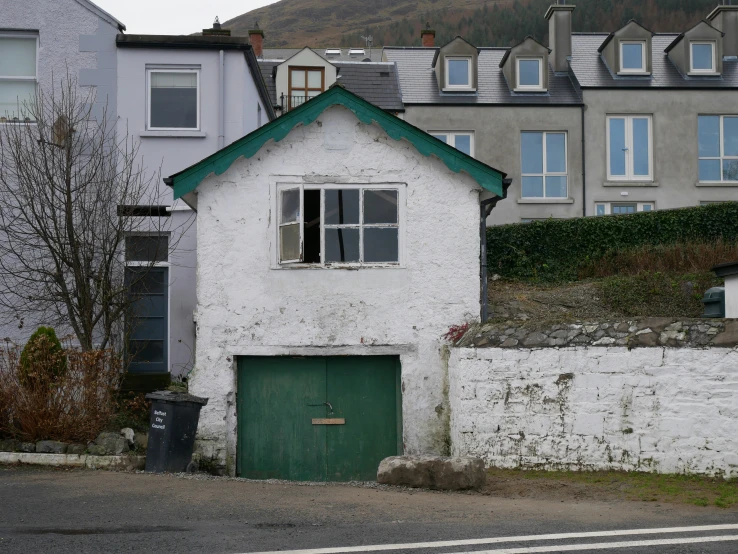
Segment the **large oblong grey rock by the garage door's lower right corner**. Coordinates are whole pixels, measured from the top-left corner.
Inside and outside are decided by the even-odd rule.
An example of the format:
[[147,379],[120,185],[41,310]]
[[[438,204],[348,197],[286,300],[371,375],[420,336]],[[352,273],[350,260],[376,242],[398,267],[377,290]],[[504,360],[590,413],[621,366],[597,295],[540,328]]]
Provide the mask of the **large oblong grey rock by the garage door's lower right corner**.
[[379,464],[377,482],[384,485],[439,490],[478,489],[486,471],[479,458],[392,456]]

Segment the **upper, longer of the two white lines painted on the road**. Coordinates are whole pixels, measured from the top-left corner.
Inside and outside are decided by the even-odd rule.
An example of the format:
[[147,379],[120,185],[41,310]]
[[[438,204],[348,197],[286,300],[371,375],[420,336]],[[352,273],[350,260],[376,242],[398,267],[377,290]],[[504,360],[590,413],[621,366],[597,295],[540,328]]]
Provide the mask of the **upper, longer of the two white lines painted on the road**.
[[[556,533],[549,535],[522,535],[518,537],[491,537],[486,539],[464,539],[458,541],[416,542],[404,544],[371,544],[366,546],[344,546],[333,548],[308,548],[304,550],[275,550],[253,554],[342,554],[345,552],[381,552],[385,550],[414,550],[420,548],[446,548],[454,546],[476,546],[480,544],[499,544],[503,542],[556,541],[564,539],[589,539],[601,537],[623,537],[632,535],[661,535],[669,533],[699,533],[708,531],[737,531],[738,524],[698,525],[694,527],[664,527],[662,529],[621,529],[617,531],[589,531],[584,533]],[[664,539],[668,540],[668,539]],[[678,539],[686,540],[686,539]],[[704,539],[700,539],[704,540]],[[738,540],[735,538],[723,540]],[[616,544],[616,543],[609,543]],[[677,542],[676,544],[679,544]],[[494,551],[502,553],[503,550]],[[543,550],[542,552],[555,552]]]

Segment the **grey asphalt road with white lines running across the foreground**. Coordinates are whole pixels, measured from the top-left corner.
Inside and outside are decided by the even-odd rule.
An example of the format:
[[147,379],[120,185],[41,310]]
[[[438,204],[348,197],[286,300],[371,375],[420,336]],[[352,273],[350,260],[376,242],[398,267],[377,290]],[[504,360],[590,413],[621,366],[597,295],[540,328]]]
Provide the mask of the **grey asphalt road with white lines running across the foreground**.
[[735,553],[738,510],[0,468],[2,553],[294,549],[310,549],[304,554]]

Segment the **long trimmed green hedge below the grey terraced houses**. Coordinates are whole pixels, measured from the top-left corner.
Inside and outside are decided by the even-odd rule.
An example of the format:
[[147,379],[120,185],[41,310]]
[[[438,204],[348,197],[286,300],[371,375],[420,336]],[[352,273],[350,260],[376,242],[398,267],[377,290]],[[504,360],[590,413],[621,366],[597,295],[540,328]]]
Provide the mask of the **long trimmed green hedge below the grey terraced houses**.
[[[497,209],[503,209],[504,202]],[[738,202],[630,215],[547,219],[487,229],[489,273],[557,282],[608,252],[643,245],[738,240]]]

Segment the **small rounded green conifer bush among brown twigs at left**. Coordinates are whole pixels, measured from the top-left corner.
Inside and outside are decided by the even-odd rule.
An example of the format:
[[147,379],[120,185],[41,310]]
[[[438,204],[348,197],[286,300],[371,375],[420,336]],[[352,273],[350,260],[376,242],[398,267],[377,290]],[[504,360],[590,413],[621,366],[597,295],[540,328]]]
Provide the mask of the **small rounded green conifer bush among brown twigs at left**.
[[18,377],[26,388],[53,385],[67,372],[67,358],[51,327],[39,327],[20,355]]

